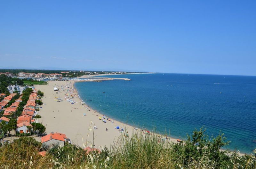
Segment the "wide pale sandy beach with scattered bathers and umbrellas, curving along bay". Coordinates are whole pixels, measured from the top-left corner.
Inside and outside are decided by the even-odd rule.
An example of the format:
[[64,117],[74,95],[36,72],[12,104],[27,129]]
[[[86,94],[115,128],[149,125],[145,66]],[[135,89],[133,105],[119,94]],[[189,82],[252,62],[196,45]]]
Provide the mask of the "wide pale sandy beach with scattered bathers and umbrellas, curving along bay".
[[[36,90],[44,92],[42,98],[44,105],[41,106],[42,108],[38,113],[42,118],[38,120],[46,126],[47,134],[52,131],[64,133],[70,138],[72,144],[81,147],[90,146],[93,143],[97,148],[101,148],[101,146],[110,148],[113,143],[115,144],[118,137],[124,137],[124,131],[121,132],[119,129],[115,129],[116,126],[126,130],[129,135],[135,131],[134,127],[136,126],[126,125],[116,121],[113,117],[109,117],[109,120],[113,121],[111,123],[111,121],[103,119],[103,114],[98,113],[86,104],[83,105],[73,84],[74,81],[49,81],[48,85],[35,86]],[[54,86],[59,89],[60,98],[63,99],[62,102],[57,101],[56,97],[59,97],[59,94],[56,94],[56,91],[53,90]],[[74,104],[64,98],[65,96],[70,97],[70,95],[73,97]],[[86,114],[86,116],[83,114]],[[99,120],[100,117],[101,120]],[[102,120],[106,120],[106,123]],[[93,130],[94,126],[97,129]],[[177,142],[176,139],[171,139],[171,141]]]

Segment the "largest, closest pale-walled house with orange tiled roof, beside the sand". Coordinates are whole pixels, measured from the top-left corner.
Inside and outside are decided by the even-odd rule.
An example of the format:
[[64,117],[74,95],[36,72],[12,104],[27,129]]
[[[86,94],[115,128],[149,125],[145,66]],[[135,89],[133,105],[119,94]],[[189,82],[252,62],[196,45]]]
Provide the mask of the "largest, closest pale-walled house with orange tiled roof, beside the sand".
[[43,147],[52,147],[54,145],[64,146],[66,139],[67,137],[65,134],[52,132],[46,136],[41,137],[41,143]]

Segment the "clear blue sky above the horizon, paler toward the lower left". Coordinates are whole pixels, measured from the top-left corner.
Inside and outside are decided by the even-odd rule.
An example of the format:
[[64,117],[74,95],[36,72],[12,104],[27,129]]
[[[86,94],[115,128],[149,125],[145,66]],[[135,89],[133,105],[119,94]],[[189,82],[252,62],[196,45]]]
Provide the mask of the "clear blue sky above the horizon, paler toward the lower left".
[[256,1],[1,1],[0,68],[256,75]]

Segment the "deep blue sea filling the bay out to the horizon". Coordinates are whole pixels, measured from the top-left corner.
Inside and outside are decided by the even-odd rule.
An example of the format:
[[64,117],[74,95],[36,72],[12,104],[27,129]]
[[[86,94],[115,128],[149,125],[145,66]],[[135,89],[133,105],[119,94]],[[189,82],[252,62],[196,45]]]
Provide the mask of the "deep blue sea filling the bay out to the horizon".
[[226,149],[251,153],[256,148],[256,77],[166,73],[104,77],[131,81],[75,84],[80,97],[101,114],[130,125],[156,127],[175,138],[186,138],[204,126],[208,136],[225,134],[231,141]]

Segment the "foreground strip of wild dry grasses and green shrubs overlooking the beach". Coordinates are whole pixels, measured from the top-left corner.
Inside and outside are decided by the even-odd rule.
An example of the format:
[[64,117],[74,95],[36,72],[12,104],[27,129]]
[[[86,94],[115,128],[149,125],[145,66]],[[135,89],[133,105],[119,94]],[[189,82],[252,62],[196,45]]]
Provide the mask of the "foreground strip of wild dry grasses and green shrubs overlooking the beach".
[[227,155],[229,151],[220,151],[220,147],[228,143],[223,134],[208,138],[200,129],[179,144],[163,142],[163,139],[156,134],[138,132],[120,137],[111,151],[105,147],[101,153],[86,154],[82,148],[67,144],[47,150],[42,157],[38,154],[43,150],[40,142],[32,137],[21,137],[0,147],[0,168],[256,168],[254,154],[239,156],[233,152]]

